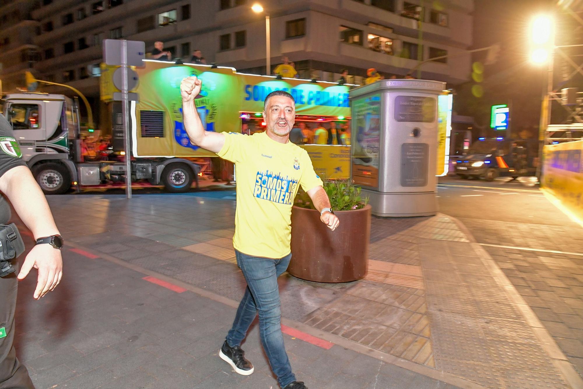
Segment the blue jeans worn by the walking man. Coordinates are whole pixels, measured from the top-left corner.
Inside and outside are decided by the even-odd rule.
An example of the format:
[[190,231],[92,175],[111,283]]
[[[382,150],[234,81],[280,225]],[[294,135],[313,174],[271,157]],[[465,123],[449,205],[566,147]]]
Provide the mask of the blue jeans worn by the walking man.
[[269,358],[271,369],[278,376],[278,383],[283,388],[296,380],[283,345],[278,286],[278,277],[286,271],[291,254],[279,260],[251,257],[237,250],[235,254],[237,265],[247,281],[247,288],[237,309],[233,328],[227,334],[227,342],[231,347],[240,345],[259,311],[261,344]]

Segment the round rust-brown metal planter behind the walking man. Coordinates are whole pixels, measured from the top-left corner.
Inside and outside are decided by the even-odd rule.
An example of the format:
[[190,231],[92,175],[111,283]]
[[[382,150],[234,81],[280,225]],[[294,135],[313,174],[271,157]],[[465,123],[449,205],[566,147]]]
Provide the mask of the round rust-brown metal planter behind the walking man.
[[318,211],[292,208],[289,274],[315,282],[349,282],[364,277],[371,206],[334,213],[340,225],[331,231],[320,221]]

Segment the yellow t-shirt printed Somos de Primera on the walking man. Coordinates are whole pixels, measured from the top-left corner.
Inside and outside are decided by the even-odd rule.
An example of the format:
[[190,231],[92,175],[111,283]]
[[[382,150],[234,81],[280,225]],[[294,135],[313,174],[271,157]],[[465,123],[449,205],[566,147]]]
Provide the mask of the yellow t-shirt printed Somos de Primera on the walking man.
[[217,155],[237,169],[233,247],[255,257],[283,258],[290,253],[291,205],[298,184],[309,191],[322,180],[308,153],[294,143],[273,141],[266,132],[224,135]]

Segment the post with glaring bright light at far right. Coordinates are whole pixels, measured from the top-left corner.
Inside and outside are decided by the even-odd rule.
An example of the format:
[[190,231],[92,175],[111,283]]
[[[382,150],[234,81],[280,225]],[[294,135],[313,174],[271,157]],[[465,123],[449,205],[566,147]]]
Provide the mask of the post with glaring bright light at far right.
[[539,163],[536,166],[536,177],[542,183],[543,147],[545,146],[545,131],[550,124],[551,100],[553,93],[553,63],[554,63],[554,22],[551,16],[535,17],[530,26],[529,57],[535,65],[547,65],[545,87],[542,92],[539,122]]

